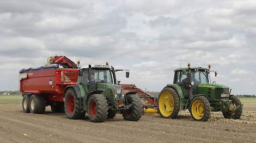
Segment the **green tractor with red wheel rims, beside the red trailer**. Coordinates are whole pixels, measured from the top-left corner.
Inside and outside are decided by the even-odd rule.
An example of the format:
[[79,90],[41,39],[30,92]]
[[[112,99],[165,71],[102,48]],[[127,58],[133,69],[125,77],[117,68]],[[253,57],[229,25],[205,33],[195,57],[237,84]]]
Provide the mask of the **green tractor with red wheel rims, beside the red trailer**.
[[65,89],[66,116],[81,119],[87,112],[90,121],[104,122],[120,111],[125,120],[138,121],[143,114],[141,99],[135,92],[124,94],[123,88],[117,85],[117,71],[108,63],[78,69],[77,85]]

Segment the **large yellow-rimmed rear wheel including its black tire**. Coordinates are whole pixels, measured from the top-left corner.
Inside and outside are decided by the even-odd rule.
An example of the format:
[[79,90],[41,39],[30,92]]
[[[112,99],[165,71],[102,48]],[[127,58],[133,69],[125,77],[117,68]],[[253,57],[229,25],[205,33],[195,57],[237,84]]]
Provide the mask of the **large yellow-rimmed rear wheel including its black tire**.
[[173,88],[163,88],[158,98],[160,116],[163,118],[177,118],[180,109],[179,100],[179,95]]

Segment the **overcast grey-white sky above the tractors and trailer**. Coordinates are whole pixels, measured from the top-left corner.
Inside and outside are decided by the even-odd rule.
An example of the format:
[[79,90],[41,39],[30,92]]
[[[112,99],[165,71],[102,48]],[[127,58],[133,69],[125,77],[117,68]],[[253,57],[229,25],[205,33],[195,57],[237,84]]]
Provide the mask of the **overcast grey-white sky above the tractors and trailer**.
[[130,69],[121,83],[160,91],[174,69],[207,67],[234,94],[256,94],[256,1],[0,1],[0,90],[22,68],[65,55]]

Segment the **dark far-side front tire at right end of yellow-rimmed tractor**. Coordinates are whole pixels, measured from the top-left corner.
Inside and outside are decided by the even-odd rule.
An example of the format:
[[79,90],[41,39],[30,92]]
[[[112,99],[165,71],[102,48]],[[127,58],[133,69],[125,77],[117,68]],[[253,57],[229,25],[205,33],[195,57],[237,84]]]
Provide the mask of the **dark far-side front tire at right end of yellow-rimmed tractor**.
[[[235,106],[242,105],[241,101],[234,95],[229,98]],[[225,119],[240,119],[242,115],[242,107],[238,108],[235,112],[222,112]]]

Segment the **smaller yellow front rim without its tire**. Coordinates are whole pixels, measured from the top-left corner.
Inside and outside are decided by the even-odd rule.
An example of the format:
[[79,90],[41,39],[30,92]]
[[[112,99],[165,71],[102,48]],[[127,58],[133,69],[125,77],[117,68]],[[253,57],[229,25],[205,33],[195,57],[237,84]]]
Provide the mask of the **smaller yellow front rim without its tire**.
[[195,100],[192,103],[191,112],[194,119],[202,119],[204,116],[204,103],[201,100]]

